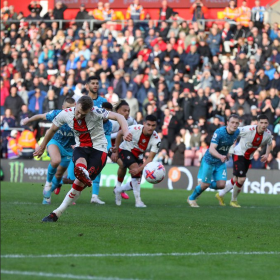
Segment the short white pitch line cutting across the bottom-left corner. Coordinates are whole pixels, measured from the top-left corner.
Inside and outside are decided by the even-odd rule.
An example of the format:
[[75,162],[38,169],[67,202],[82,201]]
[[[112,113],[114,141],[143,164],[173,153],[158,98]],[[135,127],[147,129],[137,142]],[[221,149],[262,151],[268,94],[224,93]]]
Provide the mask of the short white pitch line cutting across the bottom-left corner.
[[1,274],[41,276],[41,277],[49,277],[49,278],[83,279],[83,280],[137,280],[137,279],[131,279],[131,278],[129,279],[129,278],[118,278],[118,277],[86,276],[86,275],[74,275],[74,274],[57,274],[57,273],[5,270],[5,269],[1,269]]

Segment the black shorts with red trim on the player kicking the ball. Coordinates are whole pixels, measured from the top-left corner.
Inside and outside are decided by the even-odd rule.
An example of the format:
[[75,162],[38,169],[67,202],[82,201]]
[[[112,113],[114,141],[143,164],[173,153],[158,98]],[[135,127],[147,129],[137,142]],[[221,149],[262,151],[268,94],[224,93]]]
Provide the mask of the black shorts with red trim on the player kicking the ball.
[[94,180],[106,164],[107,153],[91,147],[76,147],[73,151],[74,165],[79,158],[86,160],[87,170],[91,174],[90,179]]

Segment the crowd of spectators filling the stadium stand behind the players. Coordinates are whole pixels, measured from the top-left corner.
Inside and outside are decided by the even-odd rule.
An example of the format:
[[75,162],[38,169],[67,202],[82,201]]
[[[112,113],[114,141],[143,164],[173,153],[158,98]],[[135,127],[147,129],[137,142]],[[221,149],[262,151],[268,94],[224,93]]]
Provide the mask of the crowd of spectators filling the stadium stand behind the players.
[[[269,118],[274,150],[265,164],[260,162],[264,151],[256,152],[252,168],[280,169],[279,24],[264,22],[260,1],[252,10],[246,5],[230,1],[224,22],[213,22],[208,30],[200,21],[207,13],[200,0],[191,7],[190,23],[167,1],[157,22],[134,0],[123,29],[111,22],[117,12],[109,3],[100,2],[93,11],[82,4],[76,20],[85,21],[73,19],[59,29],[57,20],[67,9],[61,2],[41,17],[37,1],[28,6],[29,15],[4,1],[2,157],[8,156],[9,143],[20,150],[40,138],[38,124],[24,127],[22,119],[60,109],[66,97],[78,100],[87,94],[87,77],[97,75],[99,94],[112,104],[125,99],[138,123],[147,114],[157,117],[162,138],[157,160],[164,164],[199,166],[213,132],[231,113],[244,126],[255,124],[262,112]],[[99,20],[94,29],[90,19]]]

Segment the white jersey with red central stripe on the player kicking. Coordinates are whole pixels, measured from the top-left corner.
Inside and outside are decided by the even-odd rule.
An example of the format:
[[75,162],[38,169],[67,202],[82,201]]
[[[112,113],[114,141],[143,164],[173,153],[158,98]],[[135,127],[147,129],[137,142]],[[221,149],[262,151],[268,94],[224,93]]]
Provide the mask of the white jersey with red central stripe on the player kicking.
[[107,140],[103,129],[103,119],[108,119],[109,112],[93,107],[92,111],[82,120],[76,120],[75,107],[63,110],[53,123],[61,127],[68,124],[75,134],[76,147],[92,147],[107,152]]

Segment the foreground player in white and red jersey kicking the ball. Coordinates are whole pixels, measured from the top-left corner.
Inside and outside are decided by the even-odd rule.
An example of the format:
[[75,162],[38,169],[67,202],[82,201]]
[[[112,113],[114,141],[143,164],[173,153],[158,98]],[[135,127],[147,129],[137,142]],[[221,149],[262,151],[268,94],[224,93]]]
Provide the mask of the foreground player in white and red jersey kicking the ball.
[[92,99],[88,96],[82,96],[75,107],[64,110],[56,116],[42,144],[34,152],[34,156],[40,157],[48,142],[62,125],[68,124],[73,130],[76,141],[76,147],[73,151],[76,179],[62,204],[50,215],[43,218],[43,222],[56,222],[66,208],[79,198],[81,191],[92,185],[92,180],[103,169],[107,159],[107,140],[103,130],[104,119],[117,120],[124,131],[124,140],[132,140],[132,135],[128,131],[123,116],[93,107]]

